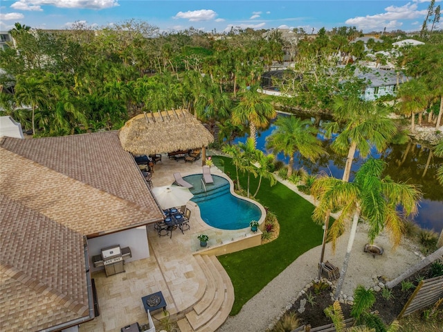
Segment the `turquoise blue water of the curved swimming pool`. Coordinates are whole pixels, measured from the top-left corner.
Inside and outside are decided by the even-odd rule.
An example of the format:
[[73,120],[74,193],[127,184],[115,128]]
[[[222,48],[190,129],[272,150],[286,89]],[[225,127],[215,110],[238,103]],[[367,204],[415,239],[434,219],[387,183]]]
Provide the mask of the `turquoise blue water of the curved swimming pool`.
[[201,219],[219,229],[242,229],[251,220],[260,220],[262,211],[257,205],[233,196],[230,184],[224,177],[213,175],[214,184],[201,184],[201,174],[188,175],[183,180],[194,186],[191,199],[199,205]]

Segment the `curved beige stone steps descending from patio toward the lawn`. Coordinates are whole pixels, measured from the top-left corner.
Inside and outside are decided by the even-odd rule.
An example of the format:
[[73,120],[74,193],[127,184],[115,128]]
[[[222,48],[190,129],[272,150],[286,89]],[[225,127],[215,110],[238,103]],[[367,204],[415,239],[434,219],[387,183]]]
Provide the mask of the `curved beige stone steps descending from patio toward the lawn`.
[[[182,332],[214,332],[230,313],[234,303],[234,288],[216,256],[195,256],[208,278],[207,293],[177,324]],[[212,301],[208,303],[211,297]]]

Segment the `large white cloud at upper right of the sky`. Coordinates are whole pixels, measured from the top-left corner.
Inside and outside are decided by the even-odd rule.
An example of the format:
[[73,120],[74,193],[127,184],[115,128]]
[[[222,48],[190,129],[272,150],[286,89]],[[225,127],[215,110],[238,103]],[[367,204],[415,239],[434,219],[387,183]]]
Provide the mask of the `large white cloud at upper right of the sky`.
[[417,10],[416,3],[406,3],[401,7],[389,6],[385,10],[386,12],[381,14],[347,19],[345,23],[363,30],[383,29],[384,27],[395,29],[402,26],[403,23],[400,20],[417,19],[417,17],[426,15],[427,12],[427,10]]

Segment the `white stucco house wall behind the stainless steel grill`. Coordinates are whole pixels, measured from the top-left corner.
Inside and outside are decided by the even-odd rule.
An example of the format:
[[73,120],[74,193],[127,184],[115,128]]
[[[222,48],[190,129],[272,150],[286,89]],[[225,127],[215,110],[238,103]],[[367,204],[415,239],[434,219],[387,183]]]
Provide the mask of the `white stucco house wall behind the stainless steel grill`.
[[100,255],[102,253],[102,248],[111,247],[112,245],[120,245],[121,248],[129,247],[131,249],[132,258],[125,259],[126,263],[138,259],[145,259],[150,256],[145,226],[99,236],[98,238],[90,238],[88,240],[88,252],[91,272],[105,270],[102,266],[100,268],[93,267],[92,256]]

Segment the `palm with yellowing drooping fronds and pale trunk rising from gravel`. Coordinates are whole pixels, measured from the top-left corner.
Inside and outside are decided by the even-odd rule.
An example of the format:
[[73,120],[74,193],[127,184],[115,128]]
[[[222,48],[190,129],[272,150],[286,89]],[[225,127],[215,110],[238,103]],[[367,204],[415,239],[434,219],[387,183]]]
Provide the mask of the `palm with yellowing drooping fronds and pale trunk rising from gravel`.
[[385,166],[384,161],[371,158],[357,171],[353,182],[325,175],[311,188],[314,198],[319,200],[313,213],[316,222],[323,222],[327,211],[341,210],[341,215],[329,232],[333,250],[336,239],[345,231],[346,221],[352,216],[347,251],[335,293],[336,299],[343,287],[359,219],[368,222],[370,243],[386,228],[390,232],[393,245],[397,246],[402,233],[401,213],[397,211],[397,207],[403,207],[403,213],[406,215],[417,212],[417,202],[421,196],[419,190],[412,184],[396,183],[390,177],[382,179],[381,174]]

